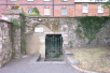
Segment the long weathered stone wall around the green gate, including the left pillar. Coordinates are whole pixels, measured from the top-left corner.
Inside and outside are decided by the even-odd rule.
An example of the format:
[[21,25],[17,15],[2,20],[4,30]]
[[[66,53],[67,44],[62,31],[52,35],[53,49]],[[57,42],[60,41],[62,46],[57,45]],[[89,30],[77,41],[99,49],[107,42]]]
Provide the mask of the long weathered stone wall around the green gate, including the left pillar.
[[[20,26],[19,28],[12,31],[12,47],[13,53],[15,54],[15,58],[19,58],[22,54],[26,54],[25,52],[27,52],[27,54],[40,53],[42,57],[45,57],[46,34],[61,34],[64,41],[63,48],[110,44],[110,20],[108,20],[106,27],[100,29],[96,39],[91,44],[87,44],[88,39],[80,39],[75,32],[79,25],[79,21],[75,17],[27,16],[25,18],[23,13],[10,12],[4,13],[3,16],[9,21],[11,21],[13,18],[17,19],[18,26]],[[14,26],[12,26],[12,29],[13,27]],[[43,28],[43,32],[35,32],[36,28]]]

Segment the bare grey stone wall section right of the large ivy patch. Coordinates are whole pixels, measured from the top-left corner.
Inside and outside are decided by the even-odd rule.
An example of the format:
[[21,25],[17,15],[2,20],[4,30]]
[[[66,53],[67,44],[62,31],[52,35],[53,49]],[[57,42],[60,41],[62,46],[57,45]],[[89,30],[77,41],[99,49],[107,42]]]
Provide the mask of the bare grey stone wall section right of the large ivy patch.
[[110,19],[107,21],[106,27],[101,28],[95,39],[97,45],[110,45]]

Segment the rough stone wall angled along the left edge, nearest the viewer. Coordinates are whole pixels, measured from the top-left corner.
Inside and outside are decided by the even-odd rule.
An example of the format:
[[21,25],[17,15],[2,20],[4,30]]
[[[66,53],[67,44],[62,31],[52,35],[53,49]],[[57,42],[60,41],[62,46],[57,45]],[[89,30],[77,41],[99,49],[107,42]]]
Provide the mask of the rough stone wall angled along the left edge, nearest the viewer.
[[11,25],[0,19],[0,68],[12,58]]

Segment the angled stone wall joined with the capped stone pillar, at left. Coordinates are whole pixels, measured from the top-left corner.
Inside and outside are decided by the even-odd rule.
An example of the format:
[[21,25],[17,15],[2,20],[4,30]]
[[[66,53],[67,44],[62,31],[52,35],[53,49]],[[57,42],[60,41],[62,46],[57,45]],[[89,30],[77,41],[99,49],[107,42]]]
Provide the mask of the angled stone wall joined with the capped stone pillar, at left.
[[[22,9],[8,11],[0,19],[0,68],[11,58],[20,58],[25,54],[25,18],[22,14]],[[12,19],[17,20],[17,25],[11,23]]]

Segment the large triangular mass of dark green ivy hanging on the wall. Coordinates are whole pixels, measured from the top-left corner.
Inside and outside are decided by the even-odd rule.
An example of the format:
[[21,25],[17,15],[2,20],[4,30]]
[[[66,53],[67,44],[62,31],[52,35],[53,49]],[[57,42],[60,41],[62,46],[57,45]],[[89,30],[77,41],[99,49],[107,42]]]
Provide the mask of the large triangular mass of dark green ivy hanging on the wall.
[[99,29],[105,27],[106,21],[109,19],[108,16],[98,17],[98,16],[84,16],[84,17],[78,17],[79,26],[75,30],[77,34],[80,38],[82,36],[82,32],[84,33],[84,36],[88,39],[88,43],[96,39],[97,32],[99,32]]

